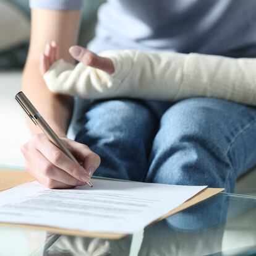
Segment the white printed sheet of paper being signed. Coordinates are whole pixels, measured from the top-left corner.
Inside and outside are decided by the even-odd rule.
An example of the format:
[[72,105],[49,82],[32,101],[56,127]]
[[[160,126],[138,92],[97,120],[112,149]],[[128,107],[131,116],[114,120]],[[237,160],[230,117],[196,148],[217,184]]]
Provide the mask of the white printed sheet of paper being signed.
[[46,189],[38,182],[0,193],[0,222],[132,234],[206,186],[93,179],[93,188]]

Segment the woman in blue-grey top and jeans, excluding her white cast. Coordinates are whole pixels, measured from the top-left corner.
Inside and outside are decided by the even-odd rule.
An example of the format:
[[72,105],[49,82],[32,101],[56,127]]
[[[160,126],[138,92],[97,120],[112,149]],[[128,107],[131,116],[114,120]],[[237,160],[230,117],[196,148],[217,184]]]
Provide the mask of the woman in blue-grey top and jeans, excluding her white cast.
[[[93,101],[79,117],[82,126],[75,142],[67,139],[73,100],[49,92],[38,65],[40,53],[53,40],[59,45],[61,58],[72,62],[68,49],[77,42],[82,1],[30,3],[32,36],[23,91],[76,158],[85,163],[85,169],[72,163],[31,126],[33,138],[23,145],[22,152],[26,168],[41,184],[50,188],[80,186],[96,171],[99,176],[225,187],[233,192],[237,176],[256,164],[255,109],[213,98],[178,103]],[[96,53],[143,49],[255,57],[255,7],[254,0],[246,4],[109,0],[100,8],[96,37],[88,49]],[[93,54],[79,49],[74,58],[95,62]]]

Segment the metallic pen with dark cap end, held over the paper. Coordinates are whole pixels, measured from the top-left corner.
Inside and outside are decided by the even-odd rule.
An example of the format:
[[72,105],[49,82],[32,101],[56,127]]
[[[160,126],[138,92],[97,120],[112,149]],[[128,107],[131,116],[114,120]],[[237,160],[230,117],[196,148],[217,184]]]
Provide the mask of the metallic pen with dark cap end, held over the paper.
[[[64,145],[64,143],[59,139],[58,135],[49,127],[49,124],[43,119],[43,117],[39,114],[36,108],[32,105],[30,100],[28,100],[27,96],[23,92],[19,92],[15,95],[15,100],[19,103],[19,105],[24,109],[25,113],[30,117],[35,125],[38,125],[41,130],[45,133],[48,139],[56,145],[64,154],[66,154],[71,160],[75,163],[79,164],[79,162],[75,159],[72,153],[68,150],[68,148]],[[93,187],[92,182],[87,182],[88,186]]]

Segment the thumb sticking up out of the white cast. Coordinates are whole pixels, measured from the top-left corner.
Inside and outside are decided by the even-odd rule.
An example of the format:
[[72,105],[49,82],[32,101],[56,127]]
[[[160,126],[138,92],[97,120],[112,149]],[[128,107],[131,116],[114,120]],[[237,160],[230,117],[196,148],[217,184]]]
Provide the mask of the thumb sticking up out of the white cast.
[[101,69],[110,75],[114,73],[114,65],[109,58],[98,56],[92,51],[77,45],[71,46],[69,48],[69,53],[74,59],[82,62],[86,66]]

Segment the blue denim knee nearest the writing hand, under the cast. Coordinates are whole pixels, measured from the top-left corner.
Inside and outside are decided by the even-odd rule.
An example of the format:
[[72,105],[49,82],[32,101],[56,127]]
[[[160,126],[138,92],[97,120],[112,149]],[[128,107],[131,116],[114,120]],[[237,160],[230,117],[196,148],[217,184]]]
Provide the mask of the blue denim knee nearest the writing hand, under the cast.
[[141,181],[158,123],[143,101],[95,101],[76,136],[101,157],[96,175]]

